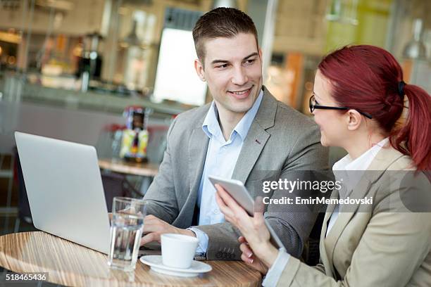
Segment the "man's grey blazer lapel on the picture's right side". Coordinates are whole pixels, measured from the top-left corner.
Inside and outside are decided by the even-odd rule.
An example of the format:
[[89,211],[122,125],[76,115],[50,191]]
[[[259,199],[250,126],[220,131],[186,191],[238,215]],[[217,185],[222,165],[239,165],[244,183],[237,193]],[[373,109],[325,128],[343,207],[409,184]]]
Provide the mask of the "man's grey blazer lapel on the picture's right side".
[[266,87],[263,89],[261,106],[251,124],[249,132],[242,146],[241,152],[235,165],[232,179],[246,182],[256,161],[261,155],[263,147],[270,138],[266,129],[274,126],[275,113],[277,111],[277,100],[269,93]]

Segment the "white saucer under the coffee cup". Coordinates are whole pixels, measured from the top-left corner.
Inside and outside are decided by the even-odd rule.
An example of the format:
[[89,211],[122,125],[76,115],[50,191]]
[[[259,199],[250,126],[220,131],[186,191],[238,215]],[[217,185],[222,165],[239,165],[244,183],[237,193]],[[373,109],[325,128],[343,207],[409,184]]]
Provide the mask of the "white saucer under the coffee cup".
[[181,277],[196,277],[213,269],[211,265],[196,260],[193,260],[192,266],[187,269],[168,267],[163,265],[161,255],[146,255],[140,257],[139,260],[151,267],[151,270],[155,272]]

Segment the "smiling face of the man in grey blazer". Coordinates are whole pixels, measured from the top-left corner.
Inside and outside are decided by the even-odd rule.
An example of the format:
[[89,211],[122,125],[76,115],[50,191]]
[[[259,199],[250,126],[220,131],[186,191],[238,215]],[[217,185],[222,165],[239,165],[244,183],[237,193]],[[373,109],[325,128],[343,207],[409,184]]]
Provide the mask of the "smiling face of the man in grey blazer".
[[217,108],[227,114],[244,115],[262,87],[261,51],[254,34],[208,39],[204,49],[205,65],[196,60],[195,68],[208,83]]

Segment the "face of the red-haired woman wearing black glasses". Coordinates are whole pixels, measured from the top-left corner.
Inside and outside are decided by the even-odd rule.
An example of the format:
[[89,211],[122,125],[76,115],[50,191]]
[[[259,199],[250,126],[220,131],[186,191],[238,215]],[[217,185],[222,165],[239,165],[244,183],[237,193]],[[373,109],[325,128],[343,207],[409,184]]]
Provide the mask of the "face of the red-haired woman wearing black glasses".
[[[314,78],[313,93],[316,98],[316,104],[320,106],[339,106],[330,96],[332,84],[318,70]],[[320,127],[320,143],[322,146],[343,146],[346,141],[349,130],[346,123],[348,117],[339,110],[323,110],[316,108],[313,111],[316,124]]]

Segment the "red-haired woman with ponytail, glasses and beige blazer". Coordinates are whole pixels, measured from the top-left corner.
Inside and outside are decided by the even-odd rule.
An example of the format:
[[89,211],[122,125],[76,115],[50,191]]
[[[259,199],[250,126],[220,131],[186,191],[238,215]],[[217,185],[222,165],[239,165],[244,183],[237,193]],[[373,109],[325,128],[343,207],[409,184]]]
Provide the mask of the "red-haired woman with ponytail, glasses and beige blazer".
[[[405,96],[408,117],[399,124]],[[262,212],[250,217],[217,186],[220,210],[244,236],[242,260],[266,274],[264,286],[431,286],[431,189],[425,176],[431,165],[430,95],[403,82],[399,63],[387,51],[346,46],[319,64],[310,109],[323,146],[348,152],[333,167],[336,178],[337,171],[373,171],[373,184],[362,193],[374,197],[371,210],[343,212],[343,206],[328,205],[321,264],[309,267],[270,244]],[[414,181],[392,184],[385,179],[390,170],[416,170]],[[425,186],[428,208],[406,211],[401,193],[415,199],[418,186]]]

